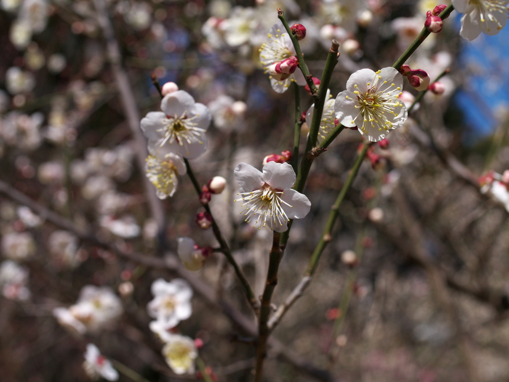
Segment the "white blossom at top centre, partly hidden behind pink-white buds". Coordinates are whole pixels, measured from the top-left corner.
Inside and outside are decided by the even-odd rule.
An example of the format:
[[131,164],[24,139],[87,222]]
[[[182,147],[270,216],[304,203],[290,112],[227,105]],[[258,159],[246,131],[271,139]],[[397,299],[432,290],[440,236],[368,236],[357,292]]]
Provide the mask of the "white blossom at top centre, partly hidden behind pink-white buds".
[[[292,40],[281,23],[274,24],[267,34],[269,41],[262,44],[260,48],[260,61],[266,73],[272,64],[283,61],[295,55],[295,48]],[[272,76],[270,85],[277,93],[284,93],[290,87],[292,81],[296,81],[298,85],[305,85],[306,81],[300,70],[295,71],[285,79],[277,80]]]

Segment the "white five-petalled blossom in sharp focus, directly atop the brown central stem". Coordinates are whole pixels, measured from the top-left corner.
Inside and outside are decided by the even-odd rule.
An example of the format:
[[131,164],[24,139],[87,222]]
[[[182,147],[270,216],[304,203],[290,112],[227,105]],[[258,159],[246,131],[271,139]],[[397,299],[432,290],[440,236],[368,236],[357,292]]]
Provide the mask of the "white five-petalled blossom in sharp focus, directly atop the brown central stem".
[[234,170],[240,185],[241,198],[245,206],[245,221],[249,223],[256,216],[253,227],[268,227],[276,232],[288,229],[290,219],[302,219],[311,208],[307,197],[290,187],[296,180],[295,172],[288,163],[268,162],[263,172],[246,163],[240,163]]

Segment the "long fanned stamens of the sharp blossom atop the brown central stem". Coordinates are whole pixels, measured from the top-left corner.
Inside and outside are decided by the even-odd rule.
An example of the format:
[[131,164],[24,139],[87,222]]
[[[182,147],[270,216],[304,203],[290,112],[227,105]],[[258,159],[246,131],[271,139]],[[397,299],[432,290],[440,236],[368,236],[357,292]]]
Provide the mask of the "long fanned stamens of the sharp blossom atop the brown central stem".
[[235,199],[234,202],[237,200],[245,202],[241,207],[246,206],[246,208],[241,213],[244,213],[244,216],[246,216],[246,223],[249,223],[254,216],[257,216],[253,228],[258,227],[260,229],[262,226],[268,226],[271,229],[275,229],[290,221],[282,205],[292,206],[281,199],[282,194],[282,190],[273,189],[265,183],[260,189],[237,194],[241,195],[242,198]]

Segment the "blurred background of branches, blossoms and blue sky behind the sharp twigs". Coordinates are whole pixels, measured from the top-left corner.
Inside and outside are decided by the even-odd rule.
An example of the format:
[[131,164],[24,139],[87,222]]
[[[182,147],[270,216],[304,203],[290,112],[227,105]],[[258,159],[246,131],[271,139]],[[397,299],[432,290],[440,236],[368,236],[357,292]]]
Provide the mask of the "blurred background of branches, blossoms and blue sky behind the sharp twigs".
[[[144,187],[139,129],[160,110],[151,73],[212,112],[207,151],[191,166],[200,185],[227,179],[210,207],[259,295],[272,235],[240,219],[233,169],[246,162],[261,170],[266,155],[293,147],[294,88],[274,92],[259,58],[279,22],[276,9],[305,26],[301,47],[312,75],[321,77],[331,39],[340,42],[335,97],[356,70],[392,66],[436,5],[0,1],[2,381],[89,380],[82,368],[89,342],[115,360],[119,380],[197,379],[168,368],[148,326],[152,282],[176,277],[195,288],[179,332],[203,340],[200,356],[218,381],[250,380],[252,339],[221,305],[254,322],[231,266],[214,253],[191,273],[176,254],[184,236],[218,247],[194,222],[203,207],[186,176],[159,204],[164,255],[158,245],[162,218],[154,215],[155,189]],[[370,149],[313,283],[273,332],[279,342],[269,348],[266,380],[509,380],[509,32],[468,42],[460,18],[454,11],[407,61],[432,82],[449,68],[443,92],[429,91],[388,146]],[[406,79],[404,90],[409,106],[418,92]],[[313,100],[299,94],[305,112]],[[307,132],[304,123],[301,152]],[[345,129],[315,160],[304,189],[311,211],[293,224],[276,306],[304,276],[361,141]],[[53,312],[75,304],[86,285],[110,287],[122,309],[78,335]]]

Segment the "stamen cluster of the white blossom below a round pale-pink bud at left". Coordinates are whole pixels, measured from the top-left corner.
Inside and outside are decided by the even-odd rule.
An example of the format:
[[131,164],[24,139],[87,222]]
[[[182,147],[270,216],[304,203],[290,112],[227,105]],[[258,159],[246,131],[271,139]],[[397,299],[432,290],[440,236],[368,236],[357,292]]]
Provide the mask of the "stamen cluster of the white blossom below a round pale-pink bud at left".
[[196,114],[189,118],[187,117],[187,112],[182,113],[180,117],[177,115],[173,117],[167,115],[161,122],[164,127],[156,130],[164,132],[164,137],[159,147],[162,147],[166,142],[170,145],[177,142],[180,146],[187,146],[192,142],[203,144],[201,136],[205,130],[196,127],[198,124],[193,122],[193,120],[199,116],[199,114]]

